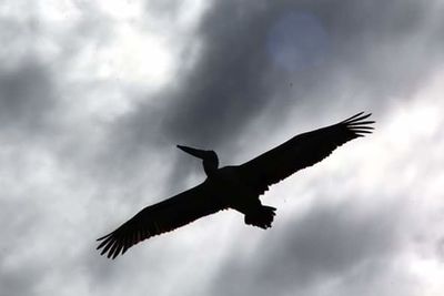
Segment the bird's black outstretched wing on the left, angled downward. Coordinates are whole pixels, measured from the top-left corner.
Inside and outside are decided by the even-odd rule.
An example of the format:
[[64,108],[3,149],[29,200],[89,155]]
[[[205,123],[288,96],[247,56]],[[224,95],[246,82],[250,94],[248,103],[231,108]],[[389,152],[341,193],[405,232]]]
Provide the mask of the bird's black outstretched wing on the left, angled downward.
[[212,194],[204,182],[169,200],[147,206],[112,233],[98,238],[98,249],[109,258],[123,255],[128,248],[151,236],[173,231],[226,206]]

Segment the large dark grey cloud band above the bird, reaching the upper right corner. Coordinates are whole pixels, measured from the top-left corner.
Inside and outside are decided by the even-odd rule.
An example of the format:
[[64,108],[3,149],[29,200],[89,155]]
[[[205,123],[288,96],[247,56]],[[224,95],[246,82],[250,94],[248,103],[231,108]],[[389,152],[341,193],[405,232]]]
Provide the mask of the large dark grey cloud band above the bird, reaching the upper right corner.
[[169,159],[179,155],[169,163],[178,184],[193,160],[174,154],[175,144],[232,155],[256,119],[265,134],[294,110],[301,122],[381,114],[440,65],[444,21],[435,10],[401,0],[216,1],[185,41],[202,44],[194,67],[113,125],[115,157],[133,164],[168,149]]

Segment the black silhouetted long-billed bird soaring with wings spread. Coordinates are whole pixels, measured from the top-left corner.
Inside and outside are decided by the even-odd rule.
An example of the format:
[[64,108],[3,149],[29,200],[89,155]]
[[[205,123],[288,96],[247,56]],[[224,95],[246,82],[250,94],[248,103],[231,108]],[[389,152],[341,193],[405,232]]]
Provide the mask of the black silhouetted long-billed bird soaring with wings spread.
[[97,249],[114,259],[130,247],[155,235],[171,232],[222,210],[244,215],[246,225],[266,229],[276,208],[263,205],[260,196],[271,185],[327,157],[342,144],[373,132],[372,113],[360,112],[336,124],[293,136],[276,147],[240,165],[219,167],[218,154],[176,145],[202,160],[206,178],[168,200],[149,205],[115,231],[98,238]]

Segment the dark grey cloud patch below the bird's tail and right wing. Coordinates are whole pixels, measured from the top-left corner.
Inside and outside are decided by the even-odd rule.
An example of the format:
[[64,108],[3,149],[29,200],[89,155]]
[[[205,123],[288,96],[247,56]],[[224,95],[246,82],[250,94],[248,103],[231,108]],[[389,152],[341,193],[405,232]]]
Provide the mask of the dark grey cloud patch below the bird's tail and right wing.
[[400,247],[402,221],[393,208],[398,206],[366,213],[360,205],[343,203],[312,208],[271,232],[246,257],[233,251],[209,294],[294,294],[347,277],[352,271],[371,278],[382,272],[380,261],[387,267]]

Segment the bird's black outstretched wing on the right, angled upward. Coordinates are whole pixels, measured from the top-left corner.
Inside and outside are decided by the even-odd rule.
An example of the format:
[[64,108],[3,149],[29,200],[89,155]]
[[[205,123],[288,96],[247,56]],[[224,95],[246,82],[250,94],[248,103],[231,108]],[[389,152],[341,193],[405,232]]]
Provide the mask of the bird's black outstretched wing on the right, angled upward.
[[361,112],[340,123],[299,134],[240,165],[241,174],[262,194],[270,185],[322,161],[345,142],[371,133],[374,121],[365,121],[370,115]]

